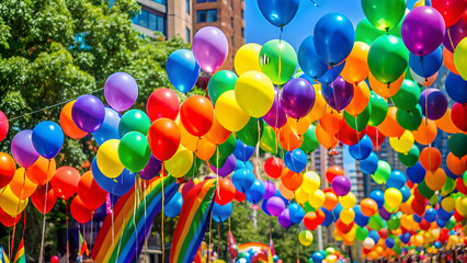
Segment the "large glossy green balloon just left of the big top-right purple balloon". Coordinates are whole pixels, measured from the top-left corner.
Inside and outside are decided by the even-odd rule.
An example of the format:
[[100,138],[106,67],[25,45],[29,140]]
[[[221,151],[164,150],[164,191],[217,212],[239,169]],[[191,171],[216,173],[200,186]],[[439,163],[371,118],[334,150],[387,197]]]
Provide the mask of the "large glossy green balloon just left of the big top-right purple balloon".
[[390,84],[399,79],[408,64],[409,50],[397,36],[379,36],[369,47],[369,71],[383,83]]

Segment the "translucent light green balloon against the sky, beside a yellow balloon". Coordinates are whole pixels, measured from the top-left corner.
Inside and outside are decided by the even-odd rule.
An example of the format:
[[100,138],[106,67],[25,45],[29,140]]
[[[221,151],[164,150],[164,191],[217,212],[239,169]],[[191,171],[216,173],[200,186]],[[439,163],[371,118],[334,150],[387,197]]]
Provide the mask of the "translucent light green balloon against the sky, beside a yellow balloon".
[[295,73],[297,54],[285,41],[269,41],[260,50],[260,67],[274,84],[284,84]]

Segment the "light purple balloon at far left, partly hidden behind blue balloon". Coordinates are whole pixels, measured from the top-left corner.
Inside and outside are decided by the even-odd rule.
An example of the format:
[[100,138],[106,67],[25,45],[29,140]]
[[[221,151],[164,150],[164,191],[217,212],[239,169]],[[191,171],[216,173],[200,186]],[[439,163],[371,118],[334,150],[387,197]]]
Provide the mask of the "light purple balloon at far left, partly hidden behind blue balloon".
[[33,145],[33,130],[24,129],[13,137],[11,153],[14,160],[23,168],[29,168],[37,161],[39,155]]

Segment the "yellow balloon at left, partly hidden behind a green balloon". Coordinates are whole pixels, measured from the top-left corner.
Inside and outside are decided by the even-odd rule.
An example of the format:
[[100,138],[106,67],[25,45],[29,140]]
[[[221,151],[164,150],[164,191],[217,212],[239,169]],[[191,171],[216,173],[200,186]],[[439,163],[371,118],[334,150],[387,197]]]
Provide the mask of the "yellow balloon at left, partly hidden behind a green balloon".
[[118,158],[119,140],[110,139],[99,147],[98,167],[101,172],[111,179],[118,176],[123,172],[123,164]]

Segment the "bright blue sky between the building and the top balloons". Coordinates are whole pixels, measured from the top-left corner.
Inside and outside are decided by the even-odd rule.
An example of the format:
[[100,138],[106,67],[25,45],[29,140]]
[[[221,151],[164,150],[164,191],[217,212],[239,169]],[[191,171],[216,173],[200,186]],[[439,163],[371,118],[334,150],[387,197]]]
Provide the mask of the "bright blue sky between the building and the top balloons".
[[[386,1],[386,0],[380,0]],[[319,8],[315,7],[311,0],[300,0],[298,12],[294,20],[286,26],[282,34],[282,39],[288,42],[298,49],[305,37],[312,35],[316,22],[324,14],[339,12],[348,16],[353,26],[364,18],[361,0],[315,0]],[[408,0],[408,8],[412,8],[415,0]],[[244,0],[244,23],[246,42],[263,45],[270,39],[277,39],[281,33],[278,27],[271,25],[261,14],[258,8],[258,0]]]

